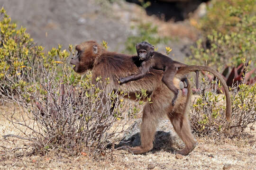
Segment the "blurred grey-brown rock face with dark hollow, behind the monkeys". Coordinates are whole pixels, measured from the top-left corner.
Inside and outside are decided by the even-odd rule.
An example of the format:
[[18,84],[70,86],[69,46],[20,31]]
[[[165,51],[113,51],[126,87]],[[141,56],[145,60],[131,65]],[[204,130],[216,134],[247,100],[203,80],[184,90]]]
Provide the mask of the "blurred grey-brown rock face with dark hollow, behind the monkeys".
[[46,50],[58,44],[67,49],[68,44],[105,40],[110,51],[132,53],[126,50],[128,37],[139,32],[139,24],[151,23],[157,26],[157,35],[169,40],[154,44],[159,51],[170,46],[172,57],[183,61],[187,48],[198,38],[190,18],[204,15],[203,1],[0,0],[0,6]]

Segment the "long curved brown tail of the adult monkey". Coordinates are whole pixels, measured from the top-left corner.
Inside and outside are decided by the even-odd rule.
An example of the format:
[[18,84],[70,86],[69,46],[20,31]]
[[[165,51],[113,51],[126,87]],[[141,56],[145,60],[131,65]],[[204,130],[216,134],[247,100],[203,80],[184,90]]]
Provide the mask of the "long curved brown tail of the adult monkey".
[[216,70],[214,70],[210,67],[196,66],[196,65],[181,67],[178,69],[176,74],[187,74],[189,72],[197,71],[197,70],[210,72],[219,79],[221,85],[224,88],[225,95],[226,95],[226,119],[228,121],[230,121],[230,119],[231,119],[231,98],[230,98],[230,94],[229,94],[229,87],[226,84],[226,81],[223,79],[222,75],[220,75]]

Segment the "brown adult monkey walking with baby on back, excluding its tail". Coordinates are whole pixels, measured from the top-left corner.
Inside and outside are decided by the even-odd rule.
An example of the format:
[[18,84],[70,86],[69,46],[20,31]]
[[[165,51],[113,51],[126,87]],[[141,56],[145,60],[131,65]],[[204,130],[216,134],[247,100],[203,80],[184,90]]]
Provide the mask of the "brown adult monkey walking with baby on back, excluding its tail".
[[[76,46],[77,56],[70,61],[74,66],[74,71],[84,73],[91,69],[92,83],[95,78],[110,78],[110,86],[121,88],[129,94],[138,93],[141,89],[146,89],[150,94],[153,103],[146,103],[143,108],[142,123],[140,129],[141,145],[137,147],[127,147],[131,153],[145,153],[153,148],[153,140],[158,119],[167,115],[171,120],[175,131],[183,140],[185,147],[177,153],[186,155],[196,146],[197,142],[191,133],[188,120],[188,106],[191,95],[191,86],[188,83],[188,93],[178,94],[175,105],[172,106],[171,99],[174,97],[168,87],[162,83],[163,71],[150,69],[150,72],[137,81],[131,81],[124,85],[119,85],[118,78],[126,77],[138,72],[137,56],[128,56],[105,50],[95,41],[82,42]],[[184,71],[184,70],[183,70]],[[194,71],[194,70],[193,70]],[[177,73],[174,77],[174,85],[179,88],[180,79],[184,78],[184,73]]]

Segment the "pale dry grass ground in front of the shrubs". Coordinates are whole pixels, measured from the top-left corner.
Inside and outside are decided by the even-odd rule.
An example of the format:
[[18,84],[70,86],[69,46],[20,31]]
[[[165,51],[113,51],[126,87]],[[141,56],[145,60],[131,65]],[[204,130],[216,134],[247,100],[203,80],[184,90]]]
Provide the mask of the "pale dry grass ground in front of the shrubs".
[[[14,104],[0,106],[0,112],[18,111]],[[16,113],[14,116],[18,115]],[[247,129],[250,131],[250,129]],[[249,132],[256,135],[255,130]],[[0,116],[0,136],[19,135],[17,129]],[[26,147],[27,142],[17,138],[4,140],[0,137],[0,169],[82,169],[82,170],[145,170],[152,164],[154,170],[220,170],[224,164],[231,164],[232,170],[253,170],[256,167],[256,138],[226,139],[216,141],[214,138],[197,138],[198,146],[188,156],[176,159],[173,153],[159,151],[145,155],[132,155],[127,151],[101,153],[97,160],[88,155],[69,157],[65,153],[50,151],[46,155],[24,156],[22,150],[5,153],[15,147]],[[13,154],[15,153],[15,154]],[[26,152],[28,153],[28,152]],[[15,156],[13,156],[15,155]]]

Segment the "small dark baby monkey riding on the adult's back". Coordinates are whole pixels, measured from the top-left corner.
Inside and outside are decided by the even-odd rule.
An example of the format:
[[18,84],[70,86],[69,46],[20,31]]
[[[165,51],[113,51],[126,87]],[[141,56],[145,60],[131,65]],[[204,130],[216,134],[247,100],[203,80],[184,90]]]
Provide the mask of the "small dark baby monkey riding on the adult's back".
[[[164,71],[164,76],[162,81],[165,85],[174,93],[174,98],[172,100],[172,105],[178,97],[179,90],[174,86],[173,80],[174,76],[177,73],[177,70],[181,67],[186,67],[188,65],[183,64],[178,61],[174,61],[173,59],[155,51],[155,47],[148,42],[139,42],[136,45],[137,55],[140,60],[142,60],[140,65],[140,72],[135,75],[120,77],[120,84],[127,83],[129,81],[137,80],[143,78],[146,73],[149,72],[150,68],[155,68],[158,70]],[[199,71],[196,72],[196,88],[198,88],[198,77]]]

